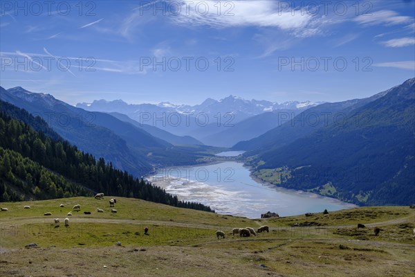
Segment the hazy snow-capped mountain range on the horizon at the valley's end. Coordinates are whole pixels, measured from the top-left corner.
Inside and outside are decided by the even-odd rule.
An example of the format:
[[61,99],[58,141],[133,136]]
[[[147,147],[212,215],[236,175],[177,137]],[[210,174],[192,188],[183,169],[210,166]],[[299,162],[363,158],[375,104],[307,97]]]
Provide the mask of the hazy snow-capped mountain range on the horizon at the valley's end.
[[125,114],[140,125],[152,125],[178,136],[192,136],[206,145],[230,147],[277,127],[279,118],[290,119],[321,103],[291,101],[279,104],[228,96],[221,100],[208,98],[194,106],[170,102],[132,105],[122,100],[95,100],[76,106],[88,111]]

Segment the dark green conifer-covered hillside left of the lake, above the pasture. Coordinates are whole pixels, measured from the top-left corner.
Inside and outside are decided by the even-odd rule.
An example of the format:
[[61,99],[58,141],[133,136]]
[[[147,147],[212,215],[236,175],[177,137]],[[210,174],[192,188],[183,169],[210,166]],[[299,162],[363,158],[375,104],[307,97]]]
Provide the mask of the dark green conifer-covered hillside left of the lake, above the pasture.
[[[203,204],[181,202],[165,190],[136,179],[126,171],[117,170],[102,158],[97,161],[67,141],[46,136],[50,132],[48,125],[24,109],[5,102],[0,102],[0,107],[0,201],[102,192],[211,211]],[[21,120],[36,123],[36,128],[46,134],[37,132]]]

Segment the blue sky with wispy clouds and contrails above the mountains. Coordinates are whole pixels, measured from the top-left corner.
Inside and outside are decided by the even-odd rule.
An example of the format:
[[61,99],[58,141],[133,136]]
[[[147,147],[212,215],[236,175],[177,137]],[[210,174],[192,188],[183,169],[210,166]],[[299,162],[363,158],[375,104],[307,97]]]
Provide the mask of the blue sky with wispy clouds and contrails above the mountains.
[[71,104],[334,102],[415,75],[414,1],[0,3],[1,86]]

